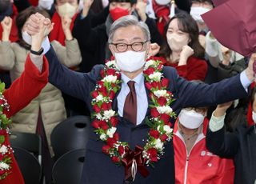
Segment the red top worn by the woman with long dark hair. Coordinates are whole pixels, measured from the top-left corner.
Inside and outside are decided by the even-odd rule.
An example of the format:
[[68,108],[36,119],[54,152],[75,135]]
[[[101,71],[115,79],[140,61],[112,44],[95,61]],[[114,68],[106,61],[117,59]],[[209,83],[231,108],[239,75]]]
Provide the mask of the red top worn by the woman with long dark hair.
[[201,80],[204,81],[207,74],[207,63],[200,58],[190,57],[187,60],[186,65],[178,66],[178,63],[167,62],[165,58],[161,58],[164,66],[172,66],[177,71],[179,76],[186,78],[188,81]]

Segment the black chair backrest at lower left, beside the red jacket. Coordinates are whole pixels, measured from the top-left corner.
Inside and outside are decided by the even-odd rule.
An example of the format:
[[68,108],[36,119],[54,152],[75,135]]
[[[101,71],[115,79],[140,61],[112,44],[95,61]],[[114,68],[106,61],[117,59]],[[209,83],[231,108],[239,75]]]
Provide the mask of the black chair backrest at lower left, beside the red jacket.
[[11,132],[10,146],[20,147],[33,153],[38,157],[39,163],[42,163],[42,140],[38,134]]

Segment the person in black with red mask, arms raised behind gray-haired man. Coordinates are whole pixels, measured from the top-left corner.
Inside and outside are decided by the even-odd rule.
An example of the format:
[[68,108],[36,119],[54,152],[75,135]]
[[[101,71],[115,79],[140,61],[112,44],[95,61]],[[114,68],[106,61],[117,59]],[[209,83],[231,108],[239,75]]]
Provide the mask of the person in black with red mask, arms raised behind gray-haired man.
[[111,56],[110,50],[107,47],[108,33],[111,24],[122,16],[133,14],[142,22],[146,22],[149,26],[150,34],[152,35],[151,42],[162,44],[161,35],[155,25],[154,19],[148,18],[146,15],[146,2],[142,0],[111,0],[109,5],[110,14],[106,18],[106,22],[102,25],[92,28],[92,16],[89,14],[90,6],[94,0],[84,1],[82,13],[79,14],[74,25],[74,38],[78,39],[78,43],[82,53],[82,72],[87,72],[92,67],[99,63],[105,63],[106,59]]

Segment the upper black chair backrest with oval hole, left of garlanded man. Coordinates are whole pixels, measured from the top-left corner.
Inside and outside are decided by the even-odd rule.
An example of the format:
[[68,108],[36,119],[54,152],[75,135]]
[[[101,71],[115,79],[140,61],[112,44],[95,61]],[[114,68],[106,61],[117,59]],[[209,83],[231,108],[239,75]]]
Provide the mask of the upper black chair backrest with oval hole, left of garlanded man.
[[62,154],[70,150],[86,148],[90,128],[90,117],[74,116],[58,123],[50,135],[57,160]]

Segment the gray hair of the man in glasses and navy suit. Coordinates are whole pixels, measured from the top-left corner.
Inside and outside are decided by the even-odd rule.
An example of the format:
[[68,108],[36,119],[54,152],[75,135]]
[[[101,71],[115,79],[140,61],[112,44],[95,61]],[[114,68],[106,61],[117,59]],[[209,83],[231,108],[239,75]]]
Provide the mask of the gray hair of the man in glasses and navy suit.
[[109,40],[108,42],[111,43],[114,37],[114,33],[116,30],[118,30],[121,27],[127,27],[127,26],[138,26],[147,41],[150,41],[150,30],[149,27],[146,25],[145,22],[139,22],[138,18],[136,18],[134,15],[126,15],[122,18],[118,18],[111,26],[110,26],[110,32],[109,32]]

